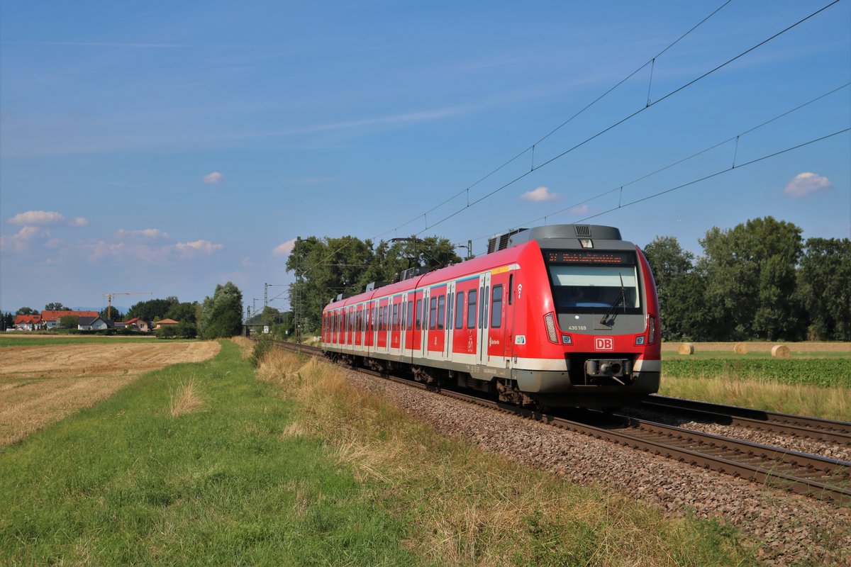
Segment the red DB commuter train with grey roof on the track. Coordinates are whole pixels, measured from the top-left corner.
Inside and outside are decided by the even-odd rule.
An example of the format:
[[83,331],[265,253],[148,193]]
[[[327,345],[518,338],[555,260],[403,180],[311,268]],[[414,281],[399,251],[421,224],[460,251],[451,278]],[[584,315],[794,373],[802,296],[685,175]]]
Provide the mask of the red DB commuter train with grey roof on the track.
[[323,310],[330,358],[534,407],[617,407],[659,389],[656,285],[616,228],[516,230],[478,258],[370,287]]

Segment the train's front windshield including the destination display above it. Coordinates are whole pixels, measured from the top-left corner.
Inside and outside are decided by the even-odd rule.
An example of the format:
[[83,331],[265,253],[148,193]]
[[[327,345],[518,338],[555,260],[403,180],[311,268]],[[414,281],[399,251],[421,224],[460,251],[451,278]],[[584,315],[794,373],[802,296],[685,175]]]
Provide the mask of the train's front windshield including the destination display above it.
[[558,313],[642,313],[635,252],[544,251]]

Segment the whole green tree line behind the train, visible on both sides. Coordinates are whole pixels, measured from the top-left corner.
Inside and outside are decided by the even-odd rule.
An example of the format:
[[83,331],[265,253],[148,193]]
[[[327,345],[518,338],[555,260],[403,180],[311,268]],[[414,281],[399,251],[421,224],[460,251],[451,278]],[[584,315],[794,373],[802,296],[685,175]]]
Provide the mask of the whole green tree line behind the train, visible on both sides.
[[[851,241],[802,239],[795,224],[755,218],[732,229],[713,227],[702,253],[675,236],[657,236],[643,251],[654,271],[666,340],[851,341]],[[437,236],[395,242],[354,236],[296,241],[287,261],[296,281],[289,301],[301,332],[317,332],[320,314],[342,293],[371,281],[390,283],[403,269],[460,262],[454,245]],[[271,309],[271,308],[267,308]],[[265,312],[258,320],[275,321]],[[277,322],[288,322],[284,317]]]

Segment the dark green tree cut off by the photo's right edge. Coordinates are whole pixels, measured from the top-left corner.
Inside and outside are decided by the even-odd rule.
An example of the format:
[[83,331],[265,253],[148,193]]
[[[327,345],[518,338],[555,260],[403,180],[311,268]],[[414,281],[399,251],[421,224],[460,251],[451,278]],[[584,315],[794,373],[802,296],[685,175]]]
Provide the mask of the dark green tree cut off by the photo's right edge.
[[851,240],[808,239],[797,281],[811,338],[851,341]]

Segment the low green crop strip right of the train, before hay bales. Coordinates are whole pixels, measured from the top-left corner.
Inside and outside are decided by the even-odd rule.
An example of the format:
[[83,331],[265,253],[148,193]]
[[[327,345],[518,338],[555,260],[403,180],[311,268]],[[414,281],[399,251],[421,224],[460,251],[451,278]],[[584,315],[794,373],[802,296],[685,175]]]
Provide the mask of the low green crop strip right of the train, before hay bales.
[[671,378],[729,377],[787,385],[851,387],[849,359],[762,359],[695,358],[671,360],[665,357],[662,373]]

